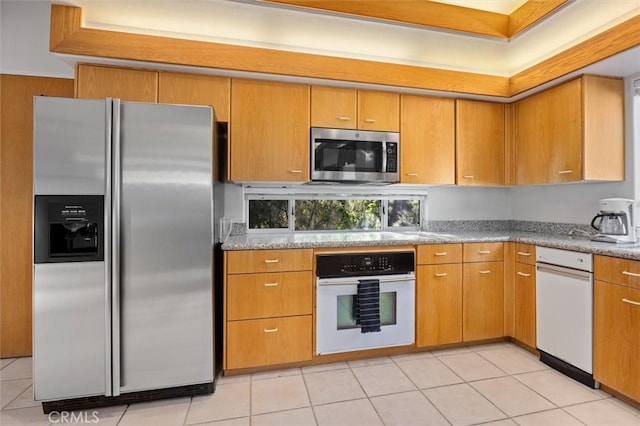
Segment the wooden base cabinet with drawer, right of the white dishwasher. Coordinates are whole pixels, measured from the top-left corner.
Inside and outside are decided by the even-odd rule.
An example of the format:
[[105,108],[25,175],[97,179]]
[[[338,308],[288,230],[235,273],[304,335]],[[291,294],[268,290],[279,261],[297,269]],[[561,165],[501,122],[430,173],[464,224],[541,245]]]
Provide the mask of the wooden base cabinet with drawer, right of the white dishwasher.
[[593,376],[640,401],[640,262],[594,256]]

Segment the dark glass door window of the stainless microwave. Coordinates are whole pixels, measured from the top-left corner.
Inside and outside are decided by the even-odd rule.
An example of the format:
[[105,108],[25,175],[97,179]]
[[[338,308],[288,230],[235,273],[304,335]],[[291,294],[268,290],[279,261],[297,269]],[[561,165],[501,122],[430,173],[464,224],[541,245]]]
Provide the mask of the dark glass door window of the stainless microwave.
[[382,143],[317,139],[315,170],[382,172]]

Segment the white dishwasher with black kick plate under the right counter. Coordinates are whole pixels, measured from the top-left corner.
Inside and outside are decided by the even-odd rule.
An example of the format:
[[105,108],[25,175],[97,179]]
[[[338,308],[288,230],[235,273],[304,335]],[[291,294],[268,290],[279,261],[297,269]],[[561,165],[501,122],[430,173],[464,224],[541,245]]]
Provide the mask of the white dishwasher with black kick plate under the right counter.
[[540,361],[592,388],[593,261],[590,253],[536,247]]

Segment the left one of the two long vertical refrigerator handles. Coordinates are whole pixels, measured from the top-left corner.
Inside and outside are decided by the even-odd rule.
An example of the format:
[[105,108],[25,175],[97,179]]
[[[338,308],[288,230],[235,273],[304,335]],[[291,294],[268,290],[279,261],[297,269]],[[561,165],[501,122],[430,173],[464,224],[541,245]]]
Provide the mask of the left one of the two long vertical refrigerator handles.
[[106,132],[105,132],[105,196],[104,196],[104,290],[105,290],[105,395],[112,396],[113,395],[113,383],[111,380],[111,364],[113,362],[113,343],[112,343],[112,324],[111,324],[111,310],[113,306],[113,298],[111,292],[111,253],[112,253],[112,244],[111,244],[111,235],[112,235],[112,226],[111,226],[111,191],[113,188],[113,184],[111,181],[111,138],[112,138],[112,125],[113,119],[111,115],[111,99],[105,99],[105,124],[106,124]]

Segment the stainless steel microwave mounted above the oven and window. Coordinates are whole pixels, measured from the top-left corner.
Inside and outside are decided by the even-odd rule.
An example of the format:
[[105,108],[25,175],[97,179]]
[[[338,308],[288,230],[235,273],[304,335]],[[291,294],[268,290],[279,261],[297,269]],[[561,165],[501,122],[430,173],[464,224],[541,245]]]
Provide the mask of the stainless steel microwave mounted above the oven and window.
[[395,183],[400,180],[400,134],[311,128],[311,180]]

